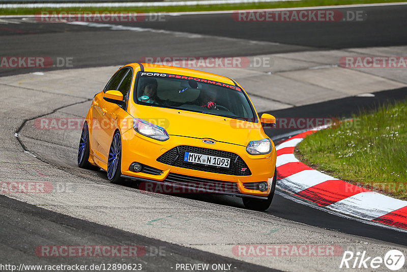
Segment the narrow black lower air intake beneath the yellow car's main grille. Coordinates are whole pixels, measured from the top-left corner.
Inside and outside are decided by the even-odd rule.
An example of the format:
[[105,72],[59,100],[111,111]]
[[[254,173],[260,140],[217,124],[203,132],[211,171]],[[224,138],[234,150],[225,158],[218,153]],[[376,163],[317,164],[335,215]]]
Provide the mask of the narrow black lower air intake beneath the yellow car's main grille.
[[235,182],[197,178],[174,173],[169,173],[164,181],[173,185],[196,189],[197,192],[240,194],[238,184]]

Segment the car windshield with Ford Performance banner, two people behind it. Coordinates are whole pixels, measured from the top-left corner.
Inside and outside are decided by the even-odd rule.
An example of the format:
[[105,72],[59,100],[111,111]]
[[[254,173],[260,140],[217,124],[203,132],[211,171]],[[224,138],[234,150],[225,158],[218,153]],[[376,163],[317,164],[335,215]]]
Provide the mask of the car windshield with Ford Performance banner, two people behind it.
[[141,72],[134,90],[134,101],[138,104],[255,121],[248,99],[234,85],[196,77]]

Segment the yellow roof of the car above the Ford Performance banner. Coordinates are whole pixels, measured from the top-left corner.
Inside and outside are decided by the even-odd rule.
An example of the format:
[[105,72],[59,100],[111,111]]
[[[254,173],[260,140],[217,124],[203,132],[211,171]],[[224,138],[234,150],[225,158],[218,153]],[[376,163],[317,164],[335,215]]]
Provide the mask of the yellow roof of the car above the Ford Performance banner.
[[[128,65],[138,66],[139,63],[131,63]],[[128,66],[128,65],[126,65],[126,66]],[[199,77],[199,78],[204,78],[204,79],[210,79],[210,80],[214,80],[214,81],[218,81],[218,82],[226,83],[226,84],[230,84],[230,85],[235,85],[234,80],[230,79],[229,77],[218,75],[218,74],[213,74],[213,73],[208,73],[208,72],[203,72],[203,71],[198,71],[198,70],[193,70],[193,69],[188,69],[188,68],[183,68],[183,67],[161,65],[161,64],[141,63],[141,65],[144,67],[144,71],[146,71],[146,72],[169,73],[169,74],[193,76],[193,77]]]

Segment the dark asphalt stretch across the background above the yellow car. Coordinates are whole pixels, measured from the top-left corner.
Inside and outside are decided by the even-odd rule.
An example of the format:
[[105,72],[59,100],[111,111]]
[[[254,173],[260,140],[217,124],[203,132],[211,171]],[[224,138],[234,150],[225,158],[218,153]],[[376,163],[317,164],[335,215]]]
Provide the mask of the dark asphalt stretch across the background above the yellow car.
[[[338,10],[343,13],[364,11],[366,19],[351,22],[245,22],[235,21],[231,13],[226,13],[164,16],[163,21],[154,15],[150,19],[153,21],[107,23],[184,33],[179,39],[170,39],[165,32],[123,35],[122,31],[111,31],[111,26],[91,28],[27,18],[26,21],[18,20],[20,23],[0,24],[0,48],[3,56],[74,57],[74,67],[82,68],[121,65],[146,56],[255,56],[407,44],[407,5]],[[194,38],[196,34],[208,37],[200,40]],[[244,41],[237,40],[234,46],[224,48],[224,40],[219,37]],[[248,40],[256,43],[248,43]],[[24,70],[31,71],[29,68]],[[0,75],[21,72],[20,69],[5,69]]]

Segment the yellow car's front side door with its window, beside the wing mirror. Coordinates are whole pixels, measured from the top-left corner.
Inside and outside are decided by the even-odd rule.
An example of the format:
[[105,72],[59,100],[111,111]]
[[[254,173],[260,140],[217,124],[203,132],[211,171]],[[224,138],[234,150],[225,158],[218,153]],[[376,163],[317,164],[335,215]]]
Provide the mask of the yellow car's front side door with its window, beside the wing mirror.
[[110,147],[110,141],[111,141],[111,135],[110,135],[110,121],[108,118],[105,117],[108,109],[111,103],[106,102],[103,99],[103,95],[106,91],[109,90],[117,90],[119,87],[120,83],[122,82],[124,76],[127,74],[128,68],[124,68],[116,72],[112,78],[109,80],[109,83],[106,85],[105,89],[101,93],[100,99],[98,99],[99,105],[98,107],[100,108],[97,116],[98,120],[94,120],[99,124],[98,129],[94,129],[94,151],[95,155],[97,156],[98,159],[102,160],[104,164],[107,164],[107,154],[106,150],[108,152],[108,148]]

